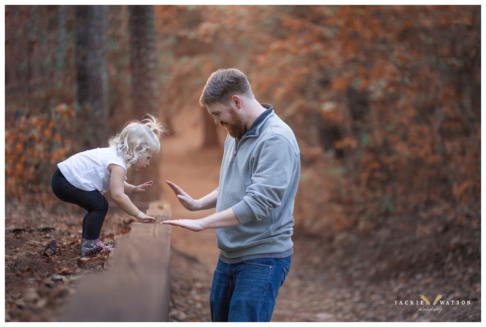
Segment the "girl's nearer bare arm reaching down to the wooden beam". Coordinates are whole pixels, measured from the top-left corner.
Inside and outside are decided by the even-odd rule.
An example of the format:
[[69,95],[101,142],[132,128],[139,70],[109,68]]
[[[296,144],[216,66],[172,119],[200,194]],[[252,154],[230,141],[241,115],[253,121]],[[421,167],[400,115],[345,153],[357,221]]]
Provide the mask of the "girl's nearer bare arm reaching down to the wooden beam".
[[[125,170],[121,166],[115,164],[110,164],[108,170],[111,172],[110,189],[113,202],[130,216],[134,216],[139,220],[155,221],[155,218],[147,216],[141,212],[139,208],[132,203],[128,195],[125,194]],[[126,184],[130,185],[128,183]],[[131,189],[133,192],[132,188],[128,187],[128,189]]]

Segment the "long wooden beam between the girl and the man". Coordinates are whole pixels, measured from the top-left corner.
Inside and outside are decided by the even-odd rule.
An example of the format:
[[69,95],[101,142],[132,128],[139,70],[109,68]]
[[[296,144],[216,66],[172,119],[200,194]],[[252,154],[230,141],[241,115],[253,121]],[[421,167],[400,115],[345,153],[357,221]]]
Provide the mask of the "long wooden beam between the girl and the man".
[[116,240],[115,253],[101,274],[86,275],[61,311],[66,322],[168,322],[171,219],[168,203],[152,202],[155,223],[133,223]]

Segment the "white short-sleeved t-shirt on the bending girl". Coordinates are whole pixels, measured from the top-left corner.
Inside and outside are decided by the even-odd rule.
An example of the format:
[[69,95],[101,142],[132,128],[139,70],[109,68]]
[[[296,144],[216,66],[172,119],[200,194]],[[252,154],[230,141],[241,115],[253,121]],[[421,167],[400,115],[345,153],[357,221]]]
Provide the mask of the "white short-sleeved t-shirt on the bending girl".
[[126,164],[123,157],[117,154],[115,148],[97,148],[80,152],[57,164],[64,177],[73,186],[85,191],[98,190],[105,193],[110,189],[110,164],[123,167]]

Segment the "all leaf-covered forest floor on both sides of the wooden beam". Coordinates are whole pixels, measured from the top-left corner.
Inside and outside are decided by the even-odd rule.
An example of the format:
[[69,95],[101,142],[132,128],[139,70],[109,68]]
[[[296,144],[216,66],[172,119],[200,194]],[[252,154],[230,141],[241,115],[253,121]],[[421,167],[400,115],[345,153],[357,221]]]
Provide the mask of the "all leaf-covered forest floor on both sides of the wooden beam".
[[[80,258],[82,215],[63,213],[62,207],[56,213],[43,212],[18,203],[6,206],[6,322],[56,321],[63,303],[76,292],[79,278],[109,269],[111,256],[122,255],[115,251]],[[116,241],[129,233],[130,224],[122,214],[109,214],[102,240]],[[394,241],[403,240],[400,237],[326,239],[297,230],[291,273],[272,320],[481,321],[480,229],[454,239],[467,235],[463,232],[456,228],[443,235],[446,242],[434,245],[437,240],[431,238],[413,246]],[[210,321],[208,298],[217,255],[214,234],[190,233],[172,229],[170,320]],[[46,247],[53,239],[56,254],[49,256]],[[401,253],[395,254],[395,249]],[[429,306],[417,304],[420,295]],[[433,305],[438,295],[442,298]]]

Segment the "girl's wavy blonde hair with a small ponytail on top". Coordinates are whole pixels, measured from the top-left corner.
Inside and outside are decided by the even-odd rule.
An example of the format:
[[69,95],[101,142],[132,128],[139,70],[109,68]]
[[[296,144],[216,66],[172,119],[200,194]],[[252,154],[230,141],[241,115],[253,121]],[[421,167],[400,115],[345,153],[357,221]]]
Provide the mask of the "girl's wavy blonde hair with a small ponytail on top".
[[167,126],[152,115],[142,121],[132,120],[125,124],[120,133],[109,139],[110,146],[117,149],[118,155],[130,168],[139,157],[149,152],[160,151],[159,138],[167,134]]

